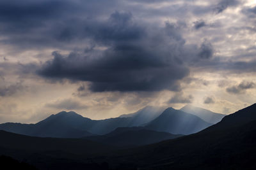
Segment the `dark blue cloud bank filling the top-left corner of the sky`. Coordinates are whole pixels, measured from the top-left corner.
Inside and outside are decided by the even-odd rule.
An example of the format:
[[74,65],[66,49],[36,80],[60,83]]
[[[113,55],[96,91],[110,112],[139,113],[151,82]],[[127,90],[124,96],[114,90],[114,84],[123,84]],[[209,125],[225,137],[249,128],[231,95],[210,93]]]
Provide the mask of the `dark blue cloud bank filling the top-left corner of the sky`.
[[22,50],[68,48],[67,42],[86,38],[86,25],[108,10],[113,12],[113,3],[112,0],[108,3],[91,0],[0,1],[0,33],[5,35],[0,43],[15,45]]

